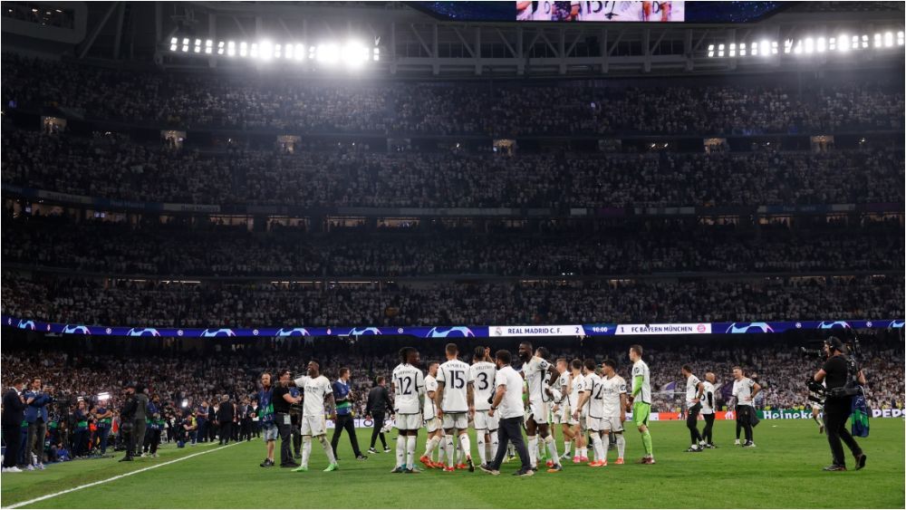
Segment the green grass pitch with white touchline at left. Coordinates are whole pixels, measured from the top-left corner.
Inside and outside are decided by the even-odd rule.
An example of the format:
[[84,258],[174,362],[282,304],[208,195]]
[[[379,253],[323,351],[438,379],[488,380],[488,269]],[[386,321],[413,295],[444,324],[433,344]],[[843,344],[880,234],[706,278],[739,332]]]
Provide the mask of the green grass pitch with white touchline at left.
[[[392,475],[392,451],[359,462],[353,459],[345,437],[340,449],[341,470],[334,473],[321,472],[327,463],[317,443],[312,448],[312,470],[308,473],[258,467],[265,457],[260,439],[223,449],[168,446],[162,448],[159,458],[133,463],[81,460],[45,471],[5,474],[0,496],[7,507],[209,452],[24,507],[903,508],[906,503],[901,419],[872,421],[871,437],[860,439],[868,465],[858,472],[821,470],[830,463],[830,451],[826,438],[818,435],[811,420],[764,420],[755,432],[757,448],[734,447],[734,424],[717,422],[714,438],[719,448],[690,454],[682,451],[689,446],[684,423],[654,422],[655,466],[611,464],[591,468],[568,462],[562,473],[541,472],[528,478],[510,476],[516,470],[513,463],[505,464],[500,476],[478,470]],[[365,448],[368,438],[370,430],[359,431],[360,444]],[[559,434],[558,443],[562,448]],[[474,440],[472,445],[474,449]],[[390,447],[395,447],[393,440]],[[423,449],[421,434],[418,455]],[[641,453],[638,432],[627,431],[627,462],[635,461]],[[610,460],[615,457],[616,452],[611,451]],[[847,462],[853,467],[852,457]]]

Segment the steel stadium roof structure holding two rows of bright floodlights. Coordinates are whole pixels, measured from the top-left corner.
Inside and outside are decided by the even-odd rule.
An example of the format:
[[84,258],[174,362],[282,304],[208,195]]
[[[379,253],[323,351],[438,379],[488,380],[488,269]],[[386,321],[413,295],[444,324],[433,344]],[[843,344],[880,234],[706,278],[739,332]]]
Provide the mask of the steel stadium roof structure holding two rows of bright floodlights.
[[[20,19],[20,11],[38,15]],[[24,53],[196,71],[443,78],[818,70],[901,61],[903,4],[802,2],[750,24],[526,24],[448,21],[401,2],[5,2],[3,39]]]

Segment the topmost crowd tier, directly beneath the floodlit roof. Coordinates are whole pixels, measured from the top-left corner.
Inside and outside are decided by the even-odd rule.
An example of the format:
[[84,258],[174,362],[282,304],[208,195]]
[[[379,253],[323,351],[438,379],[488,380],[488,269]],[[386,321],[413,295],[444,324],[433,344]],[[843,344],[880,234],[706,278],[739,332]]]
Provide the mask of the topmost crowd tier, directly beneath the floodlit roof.
[[[350,83],[124,72],[3,57],[3,101],[181,128],[525,135],[902,129],[901,82]],[[555,101],[551,101],[555,98]],[[12,103],[10,102],[12,101]]]

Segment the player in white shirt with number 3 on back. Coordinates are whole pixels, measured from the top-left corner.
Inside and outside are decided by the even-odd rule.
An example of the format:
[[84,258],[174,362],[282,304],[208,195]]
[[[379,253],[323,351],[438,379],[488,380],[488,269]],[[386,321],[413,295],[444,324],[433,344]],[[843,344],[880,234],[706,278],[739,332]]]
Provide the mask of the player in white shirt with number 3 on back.
[[498,419],[488,416],[488,411],[491,410],[491,399],[494,398],[496,373],[496,365],[487,361],[485,348],[476,347],[472,356],[472,366],[468,369],[468,387],[472,392],[474,402],[469,412],[475,417],[475,437],[481,466],[487,465],[487,462],[497,452]]

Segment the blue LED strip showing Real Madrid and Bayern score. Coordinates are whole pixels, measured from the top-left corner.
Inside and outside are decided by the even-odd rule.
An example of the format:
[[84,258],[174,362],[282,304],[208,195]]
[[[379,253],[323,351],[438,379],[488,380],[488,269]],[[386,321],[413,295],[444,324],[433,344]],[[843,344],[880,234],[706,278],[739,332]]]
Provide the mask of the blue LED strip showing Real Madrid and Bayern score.
[[284,327],[284,328],[149,328],[129,326],[87,326],[29,321],[3,315],[4,327],[95,336],[166,336],[186,338],[281,337],[281,336],[392,336],[418,338],[505,338],[524,336],[622,336],[673,334],[780,333],[791,330],[843,330],[902,328],[902,319],[877,321],[801,322],[691,322],[670,324],[566,324],[526,326],[370,326],[370,327]]

